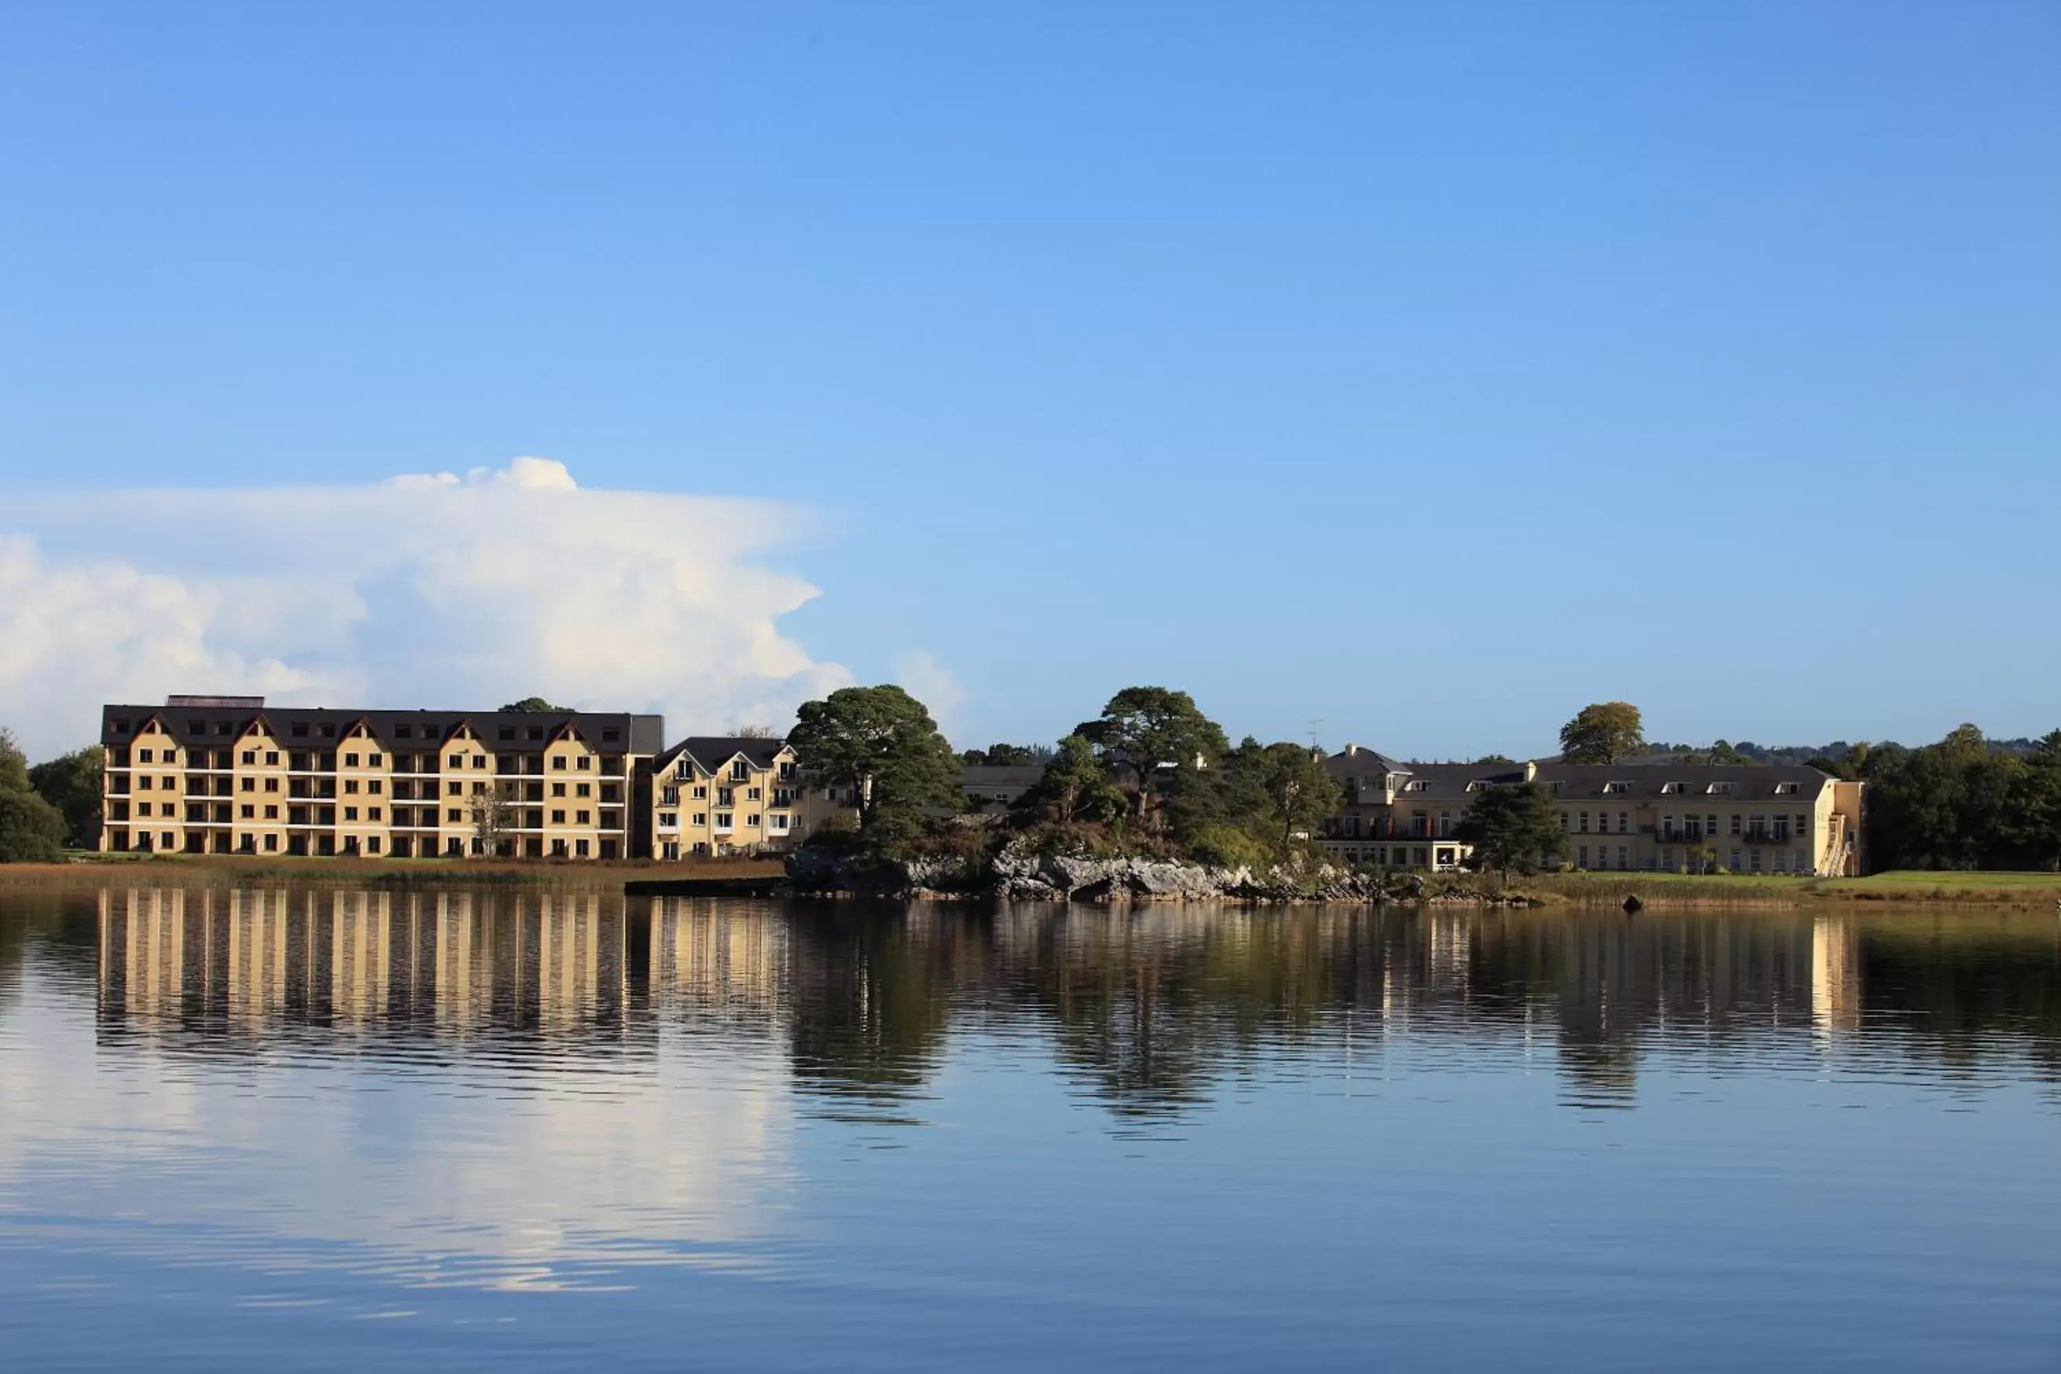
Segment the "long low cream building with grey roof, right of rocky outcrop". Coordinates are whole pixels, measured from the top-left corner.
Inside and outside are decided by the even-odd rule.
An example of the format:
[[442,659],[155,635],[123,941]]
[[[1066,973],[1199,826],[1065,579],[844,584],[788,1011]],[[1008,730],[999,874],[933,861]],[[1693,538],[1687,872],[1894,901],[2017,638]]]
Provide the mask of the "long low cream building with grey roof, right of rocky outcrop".
[[1453,869],[1459,822],[1486,787],[1540,783],[1566,832],[1556,863],[1612,871],[1861,871],[1861,783],[1781,764],[1404,764],[1348,744],[1323,847],[1348,863]]

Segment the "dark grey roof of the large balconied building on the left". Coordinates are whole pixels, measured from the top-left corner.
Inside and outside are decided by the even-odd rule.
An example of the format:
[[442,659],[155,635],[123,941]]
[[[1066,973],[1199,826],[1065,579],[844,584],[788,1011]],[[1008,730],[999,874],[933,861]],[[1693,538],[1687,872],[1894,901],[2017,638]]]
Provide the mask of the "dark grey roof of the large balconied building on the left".
[[[188,698],[192,700],[192,698]],[[565,729],[596,750],[655,754],[666,740],[666,717],[622,711],[334,711],[328,707],[101,707],[101,744],[128,744],[136,727],[157,717],[179,744],[227,748],[254,723],[264,723],[286,748],[334,746],[363,723],[390,752],[435,748],[460,725],[474,731],[497,754],[542,754]],[[115,729],[117,723],[128,729]],[[194,727],[200,729],[194,729]],[[328,731],[328,733],[324,733]]]

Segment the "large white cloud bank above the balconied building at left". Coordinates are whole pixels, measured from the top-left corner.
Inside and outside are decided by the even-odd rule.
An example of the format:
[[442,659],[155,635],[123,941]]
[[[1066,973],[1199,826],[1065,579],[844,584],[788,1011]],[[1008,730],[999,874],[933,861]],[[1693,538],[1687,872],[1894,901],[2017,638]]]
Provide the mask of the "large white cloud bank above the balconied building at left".
[[31,756],[103,700],[664,711],[668,735],[785,723],[845,686],[765,566],[804,523],[765,501],[585,490],[565,463],[377,486],[14,494],[0,513],[0,723]]

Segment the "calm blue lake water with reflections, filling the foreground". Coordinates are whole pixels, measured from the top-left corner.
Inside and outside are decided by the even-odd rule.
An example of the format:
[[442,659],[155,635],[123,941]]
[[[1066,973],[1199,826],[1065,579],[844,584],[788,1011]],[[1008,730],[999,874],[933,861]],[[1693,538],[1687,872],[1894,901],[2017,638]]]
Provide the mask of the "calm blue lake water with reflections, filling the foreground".
[[0,892],[0,1351],[2061,1370],[2061,923]]

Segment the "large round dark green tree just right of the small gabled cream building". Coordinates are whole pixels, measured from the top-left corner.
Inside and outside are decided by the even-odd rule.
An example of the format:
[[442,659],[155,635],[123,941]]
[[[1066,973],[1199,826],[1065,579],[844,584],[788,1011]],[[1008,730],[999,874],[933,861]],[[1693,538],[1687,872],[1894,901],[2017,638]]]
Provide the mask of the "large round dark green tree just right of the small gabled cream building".
[[923,702],[899,686],[839,688],[802,702],[787,735],[810,775],[859,799],[859,834],[874,847],[921,828],[923,808],[956,805],[960,762]]

